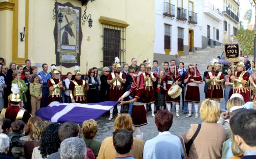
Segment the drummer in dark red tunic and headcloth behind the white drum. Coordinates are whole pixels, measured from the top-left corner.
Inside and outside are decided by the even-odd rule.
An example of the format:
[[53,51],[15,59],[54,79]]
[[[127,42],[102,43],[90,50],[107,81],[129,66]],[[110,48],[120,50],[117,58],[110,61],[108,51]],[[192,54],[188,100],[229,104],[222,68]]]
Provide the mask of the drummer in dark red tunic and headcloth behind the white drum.
[[[174,73],[172,73],[172,69],[174,70]],[[170,107],[171,107],[171,103],[175,103],[175,108],[176,108],[176,117],[180,118],[179,115],[179,110],[180,110],[180,96],[176,97],[175,99],[173,99],[172,97],[170,97],[168,95],[168,90],[172,87],[172,85],[176,84],[176,81],[179,82],[178,85],[181,85],[181,77],[180,74],[178,72],[178,69],[176,67],[176,65],[172,65],[170,66],[170,69],[168,71],[168,74],[166,74],[165,78],[164,78],[164,87],[166,88],[165,91],[165,100],[166,100],[166,104],[167,104],[167,110],[170,111]]]

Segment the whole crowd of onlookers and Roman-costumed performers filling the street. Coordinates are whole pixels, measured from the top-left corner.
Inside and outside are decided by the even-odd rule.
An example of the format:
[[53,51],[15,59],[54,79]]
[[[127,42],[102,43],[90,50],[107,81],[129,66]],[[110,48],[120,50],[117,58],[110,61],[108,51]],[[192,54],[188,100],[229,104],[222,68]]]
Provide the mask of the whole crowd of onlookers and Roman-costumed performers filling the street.
[[[3,59],[0,60],[4,63]],[[170,60],[170,64],[164,62],[163,69],[160,69],[156,60],[153,66],[147,60],[139,66],[137,62],[133,58],[132,64],[124,64],[121,72],[121,65],[115,61],[112,70],[103,67],[101,76],[97,74],[96,67],[89,69],[88,74],[83,76],[76,66],[74,75],[69,72],[65,79],[62,79],[54,64],[51,65],[50,73],[46,63],[42,64],[39,73],[36,66],[31,66],[30,60],[26,60],[25,67],[16,67],[12,62],[8,69],[2,64],[0,100],[3,102],[0,103],[3,104],[1,113],[4,116],[0,116],[0,158],[256,157],[256,102],[250,102],[251,97],[248,102],[245,90],[249,89],[244,82],[250,80],[251,86],[254,86],[256,74],[249,75],[244,71],[246,67],[252,70],[246,60],[237,64],[235,76],[241,77],[238,79],[232,74],[234,68],[228,69],[224,76],[218,63],[207,66],[208,71],[202,79],[196,65],[189,64],[186,70],[177,56]],[[208,99],[201,103],[199,109],[198,84],[202,84],[203,80],[206,81],[208,90],[205,93]],[[233,86],[233,81],[238,84]],[[200,114],[202,120],[201,124],[191,124],[180,135],[169,131],[174,118],[172,106],[176,109],[176,118],[180,118],[180,96],[168,93],[175,84],[183,92],[183,113],[188,113],[187,118],[191,117],[194,105],[195,117],[199,118]],[[228,98],[226,111],[221,111],[219,101],[219,92],[223,96],[223,84],[224,96]],[[241,92],[230,94],[232,89]],[[79,126],[73,122],[50,123],[36,116],[40,107],[52,101],[94,103],[109,100],[119,100],[120,103],[116,106],[118,116],[115,118],[113,136],[103,141],[94,139],[98,126],[92,119]],[[129,113],[121,113],[122,105],[129,105]],[[147,124],[147,106],[151,108],[159,133],[144,142],[141,126]],[[114,109],[111,109],[109,120],[113,119],[113,112]]]

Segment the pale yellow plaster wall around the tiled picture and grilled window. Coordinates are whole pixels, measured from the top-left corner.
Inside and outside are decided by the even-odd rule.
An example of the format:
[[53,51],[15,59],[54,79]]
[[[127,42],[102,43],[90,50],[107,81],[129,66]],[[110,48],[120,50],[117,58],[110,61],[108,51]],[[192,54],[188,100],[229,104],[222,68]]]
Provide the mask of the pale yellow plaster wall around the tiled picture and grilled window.
[[[25,0],[19,3],[25,3]],[[28,15],[28,58],[32,65],[35,63],[48,65],[56,63],[55,41],[53,29],[55,20],[52,19],[52,10],[55,1],[32,1],[29,0]],[[58,1],[59,3],[70,2],[75,7],[81,7],[81,15],[83,15],[84,7],[81,1]],[[19,4],[19,7],[25,7],[25,4]],[[99,22],[100,16],[106,16],[126,21],[129,26],[126,28],[126,52],[125,62],[131,64],[131,58],[136,57],[139,63],[149,58],[153,60],[153,47],[155,39],[155,1],[154,0],[101,0],[88,3],[87,15],[91,14],[93,19],[93,27],[88,27],[88,21],[82,29],[82,43],[80,56],[80,70],[85,74],[86,63],[88,61],[88,69],[93,66],[101,67],[102,63],[102,25]],[[11,12],[11,11],[8,11]],[[19,9],[20,18],[18,21],[18,33],[21,32],[26,24],[25,9]],[[3,21],[2,11],[0,11],[0,20]],[[20,15],[22,14],[22,15]],[[7,19],[5,21],[8,21]],[[10,23],[10,22],[9,22]],[[8,24],[10,25],[10,24]],[[5,27],[0,25],[1,27]],[[9,28],[10,29],[10,28]],[[18,37],[20,37],[18,35]],[[25,37],[26,38],[26,37]],[[90,40],[89,40],[90,39]],[[25,39],[26,40],[26,39]],[[1,45],[2,42],[0,42]],[[9,42],[10,43],[10,42]],[[7,43],[7,45],[10,45]],[[25,55],[25,41],[18,41],[18,56]],[[1,47],[1,46],[0,46]],[[11,48],[11,47],[5,47]],[[12,61],[10,51],[4,51],[6,63]],[[2,55],[1,55],[2,56]],[[8,57],[9,56],[9,57]],[[114,62],[114,59],[113,59]],[[41,70],[41,68],[39,69]],[[66,68],[62,66],[63,74],[74,72],[74,68]]]

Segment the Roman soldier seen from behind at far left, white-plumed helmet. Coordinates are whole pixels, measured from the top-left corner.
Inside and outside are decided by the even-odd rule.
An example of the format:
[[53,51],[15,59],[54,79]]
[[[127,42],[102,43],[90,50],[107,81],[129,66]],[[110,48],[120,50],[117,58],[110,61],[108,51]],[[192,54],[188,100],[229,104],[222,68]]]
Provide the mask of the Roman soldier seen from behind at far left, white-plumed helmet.
[[10,119],[11,122],[15,120],[22,120],[25,123],[28,122],[29,118],[32,117],[30,113],[24,109],[23,101],[19,96],[19,87],[17,84],[12,84],[11,88],[12,94],[9,95],[9,106],[8,108],[3,108],[1,114],[4,118]]

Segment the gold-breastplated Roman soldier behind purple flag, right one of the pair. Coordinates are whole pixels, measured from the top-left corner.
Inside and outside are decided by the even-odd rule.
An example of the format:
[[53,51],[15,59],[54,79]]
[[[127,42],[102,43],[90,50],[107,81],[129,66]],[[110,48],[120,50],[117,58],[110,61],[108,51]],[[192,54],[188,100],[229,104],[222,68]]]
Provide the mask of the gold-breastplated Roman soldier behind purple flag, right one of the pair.
[[[81,75],[79,67],[75,66],[75,76]],[[86,103],[86,93],[88,89],[88,83],[83,79],[74,79],[69,84],[70,98],[74,99],[76,103]]]

